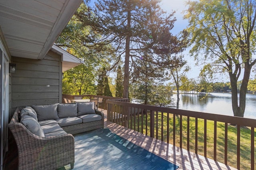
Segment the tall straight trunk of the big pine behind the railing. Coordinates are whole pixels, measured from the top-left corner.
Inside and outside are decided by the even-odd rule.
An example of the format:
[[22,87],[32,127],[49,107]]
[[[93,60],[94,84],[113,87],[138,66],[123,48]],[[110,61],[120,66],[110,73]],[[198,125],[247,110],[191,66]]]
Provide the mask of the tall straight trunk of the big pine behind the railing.
[[127,35],[125,45],[125,60],[124,60],[124,92],[123,98],[129,98],[129,60],[130,60],[130,28],[131,28],[131,11],[128,8],[127,16]]

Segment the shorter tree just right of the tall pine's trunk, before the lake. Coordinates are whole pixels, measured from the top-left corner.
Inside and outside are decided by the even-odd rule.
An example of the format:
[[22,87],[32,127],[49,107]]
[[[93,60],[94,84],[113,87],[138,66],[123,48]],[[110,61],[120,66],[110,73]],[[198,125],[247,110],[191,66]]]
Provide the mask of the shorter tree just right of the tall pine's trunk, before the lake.
[[[144,60],[144,57],[147,60]],[[137,59],[133,64],[132,68],[132,84],[130,87],[132,90],[132,97],[137,100],[143,101],[145,105],[157,105],[157,106],[167,106],[170,104],[170,98],[166,95],[164,88],[161,90],[159,87],[164,80],[163,72],[164,67],[158,66],[152,60],[152,55],[148,55],[146,52],[143,57]],[[163,87],[163,86],[161,86]]]

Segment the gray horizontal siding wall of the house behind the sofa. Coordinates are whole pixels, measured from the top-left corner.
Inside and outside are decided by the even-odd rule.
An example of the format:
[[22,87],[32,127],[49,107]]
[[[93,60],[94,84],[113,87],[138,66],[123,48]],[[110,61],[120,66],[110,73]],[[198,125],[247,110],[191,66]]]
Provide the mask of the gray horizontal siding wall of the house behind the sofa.
[[12,109],[59,103],[62,94],[61,56],[49,51],[42,60],[12,57]]

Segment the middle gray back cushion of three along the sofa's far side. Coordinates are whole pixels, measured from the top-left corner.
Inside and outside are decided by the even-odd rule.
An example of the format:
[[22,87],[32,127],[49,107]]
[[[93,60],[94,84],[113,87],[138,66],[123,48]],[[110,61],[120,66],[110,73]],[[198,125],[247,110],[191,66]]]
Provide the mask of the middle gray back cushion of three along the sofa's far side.
[[76,117],[77,116],[77,104],[58,104],[58,117]]

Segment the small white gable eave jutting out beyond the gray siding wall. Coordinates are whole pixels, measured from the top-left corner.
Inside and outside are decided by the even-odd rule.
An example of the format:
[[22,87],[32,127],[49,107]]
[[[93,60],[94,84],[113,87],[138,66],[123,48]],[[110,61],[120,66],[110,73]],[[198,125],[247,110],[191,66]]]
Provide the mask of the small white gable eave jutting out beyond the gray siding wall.
[[68,53],[57,45],[52,45],[51,50],[62,56],[62,72],[84,63],[84,61]]

